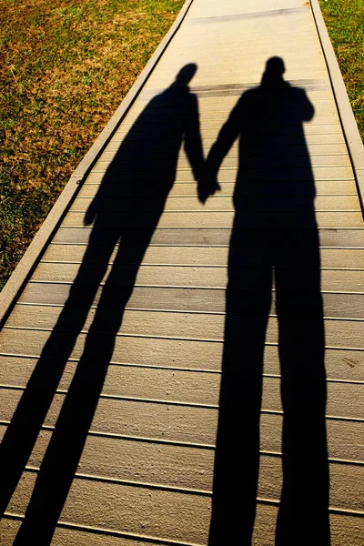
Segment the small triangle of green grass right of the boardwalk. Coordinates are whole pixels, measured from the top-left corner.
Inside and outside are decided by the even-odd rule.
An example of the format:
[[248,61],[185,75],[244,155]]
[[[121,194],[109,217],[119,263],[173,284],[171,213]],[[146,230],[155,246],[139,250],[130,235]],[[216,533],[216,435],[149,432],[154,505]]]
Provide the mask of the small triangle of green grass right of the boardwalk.
[[364,0],[319,0],[364,141]]

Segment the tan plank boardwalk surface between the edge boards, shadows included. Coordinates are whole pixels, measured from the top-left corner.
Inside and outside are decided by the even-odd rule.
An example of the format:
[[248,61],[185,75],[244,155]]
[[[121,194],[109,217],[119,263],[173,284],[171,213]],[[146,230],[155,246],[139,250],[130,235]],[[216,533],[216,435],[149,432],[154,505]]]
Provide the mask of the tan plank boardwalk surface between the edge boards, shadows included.
[[194,0],[0,333],[0,543],[362,546],[363,287],[310,5]]

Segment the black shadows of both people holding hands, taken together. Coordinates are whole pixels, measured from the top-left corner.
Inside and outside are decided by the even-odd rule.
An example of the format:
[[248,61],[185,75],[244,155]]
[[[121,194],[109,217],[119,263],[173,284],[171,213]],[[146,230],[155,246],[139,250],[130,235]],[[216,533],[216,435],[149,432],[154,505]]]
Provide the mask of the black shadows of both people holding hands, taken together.
[[[176,180],[180,148],[185,148],[198,198],[205,203],[219,189],[217,172],[229,150],[234,153],[237,138],[209,544],[248,545],[252,540],[261,457],[263,352],[273,277],[284,410],[276,544],[329,544],[319,236],[303,132],[303,122],[313,117],[313,106],[302,89],[284,81],[283,61],[273,57],[261,84],[238,100],[205,160],[197,96],[188,87],[196,70],[196,65],[184,66],[176,81],[150,100],[126,133],[86,209],[84,223],[93,227],[82,262],[0,448],[4,513],[88,320],[85,347],[77,357],[75,375],[15,538],[17,546],[45,546],[52,541],[139,266],[150,243],[176,242],[178,230],[166,235],[156,228]],[[279,411],[275,417],[279,424]]]

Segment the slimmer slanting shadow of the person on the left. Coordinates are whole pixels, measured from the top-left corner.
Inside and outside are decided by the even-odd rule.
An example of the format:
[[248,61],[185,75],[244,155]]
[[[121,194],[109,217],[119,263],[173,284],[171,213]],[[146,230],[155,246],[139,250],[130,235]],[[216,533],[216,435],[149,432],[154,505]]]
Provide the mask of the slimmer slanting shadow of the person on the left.
[[[194,176],[201,175],[204,157],[197,97],[188,87],[196,70],[196,65],[184,66],[174,84],[148,103],[127,133],[87,209],[85,224],[94,222],[94,226],[85,256],[0,449],[3,514],[77,336],[96,303],[82,357],[41,464],[25,521],[15,539],[17,546],[45,546],[52,540],[94,418],[139,265],[176,178],[182,144]],[[115,251],[97,303],[96,294]]]

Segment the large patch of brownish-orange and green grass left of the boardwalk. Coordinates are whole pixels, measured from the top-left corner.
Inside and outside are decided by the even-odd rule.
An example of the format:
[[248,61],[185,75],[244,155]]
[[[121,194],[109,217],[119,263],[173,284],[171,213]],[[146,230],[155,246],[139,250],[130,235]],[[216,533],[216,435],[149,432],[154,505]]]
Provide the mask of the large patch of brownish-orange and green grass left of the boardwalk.
[[184,0],[0,0],[0,289]]

